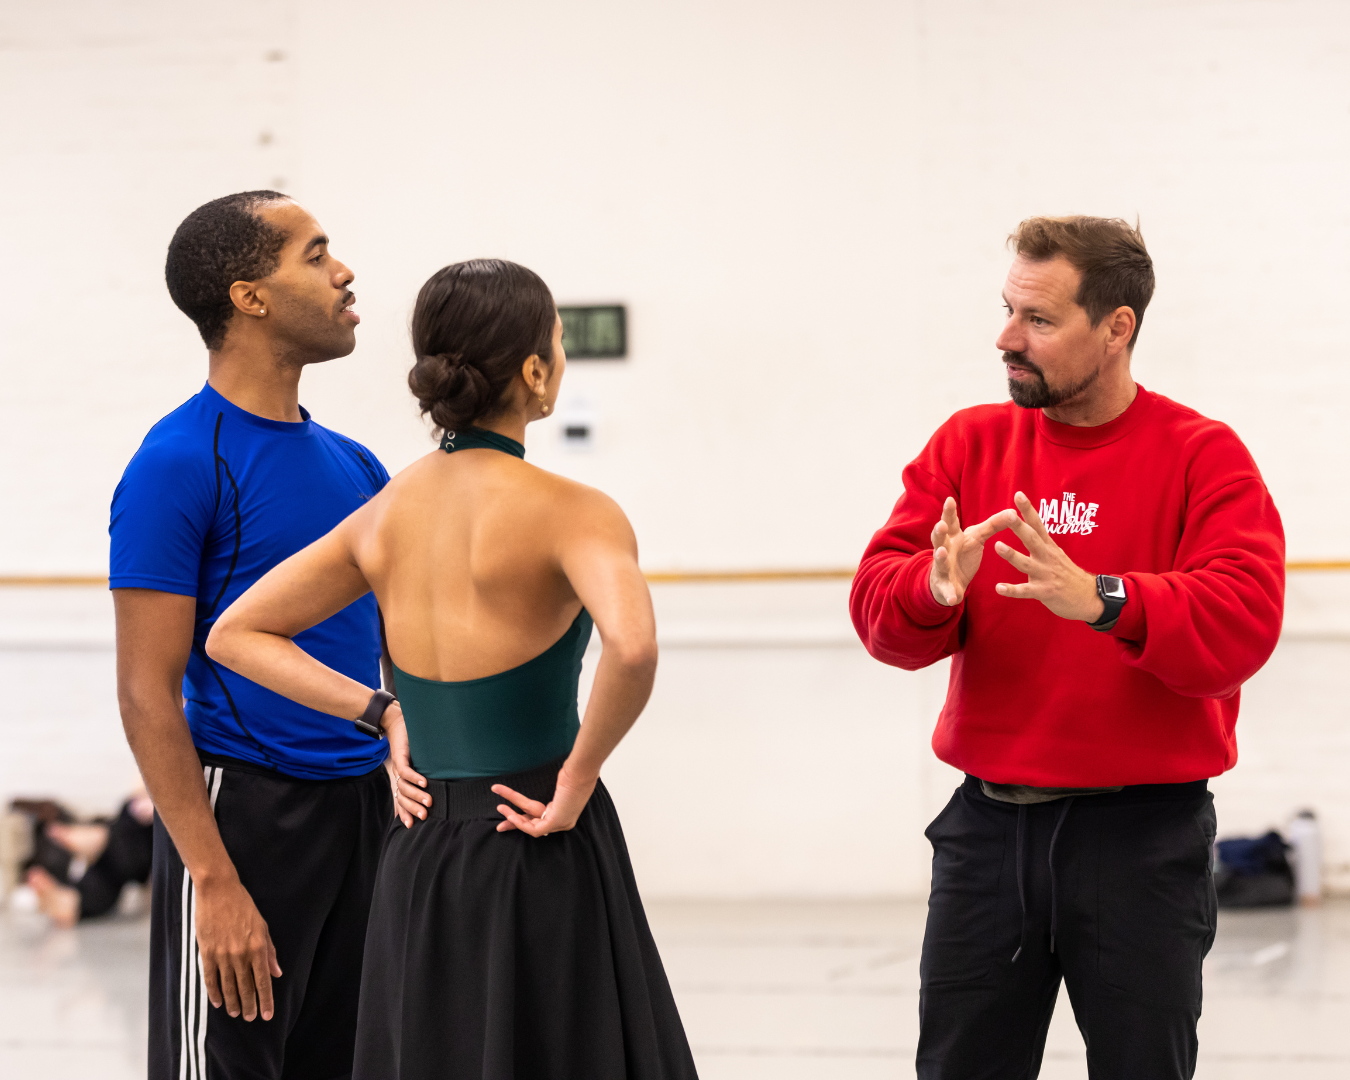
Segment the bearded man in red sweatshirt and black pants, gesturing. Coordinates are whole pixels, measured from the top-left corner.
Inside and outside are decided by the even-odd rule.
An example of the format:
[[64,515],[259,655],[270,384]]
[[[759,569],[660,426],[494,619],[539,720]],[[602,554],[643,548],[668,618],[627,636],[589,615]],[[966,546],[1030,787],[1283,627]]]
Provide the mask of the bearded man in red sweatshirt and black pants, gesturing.
[[1010,242],[1013,401],[938,428],[850,597],[876,659],[952,657],[933,749],[967,779],[927,829],[918,1075],[1034,1077],[1064,979],[1094,1077],[1189,1077],[1207,779],[1280,634],[1284,532],[1237,435],[1130,377],[1138,231],[1033,217]]

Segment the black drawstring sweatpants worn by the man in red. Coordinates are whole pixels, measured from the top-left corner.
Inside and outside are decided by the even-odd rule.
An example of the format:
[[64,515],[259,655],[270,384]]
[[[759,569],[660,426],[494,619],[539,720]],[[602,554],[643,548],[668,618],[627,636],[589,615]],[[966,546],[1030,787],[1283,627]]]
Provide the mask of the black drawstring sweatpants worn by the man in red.
[[1204,780],[1014,806],[968,776],[926,833],[921,1080],[1035,1077],[1061,979],[1092,1080],[1191,1077],[1214,834]]

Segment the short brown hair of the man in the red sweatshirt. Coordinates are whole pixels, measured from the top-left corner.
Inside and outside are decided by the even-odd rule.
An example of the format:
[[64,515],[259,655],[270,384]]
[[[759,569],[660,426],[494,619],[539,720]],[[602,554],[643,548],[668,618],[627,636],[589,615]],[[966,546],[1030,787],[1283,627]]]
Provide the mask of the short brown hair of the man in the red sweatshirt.
[[1098,325],[1116,308],[1134,312],[1134,336],[1139,340],[1143,309],[1153,298],[1153,259],[1138,225],[1119,217],[1027,217],[1008,236],[1023,259],[1044,262],[1062,255],[1079,271],[1075,302]]

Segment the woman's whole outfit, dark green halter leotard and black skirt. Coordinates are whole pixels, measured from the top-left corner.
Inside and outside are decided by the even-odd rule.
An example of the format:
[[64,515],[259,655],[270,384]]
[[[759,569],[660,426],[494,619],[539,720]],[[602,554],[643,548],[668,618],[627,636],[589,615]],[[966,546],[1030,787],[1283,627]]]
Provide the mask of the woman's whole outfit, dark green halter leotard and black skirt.
[[[478,428],[447,431],[441,450],[525,456]],[[385,837],[354,1080],[697,1079],[605,784],[571,830],[497,832],[494,783],[554,795],[590,636],[583,609],[549,649],[497,675],[394,670],[432,805]]]

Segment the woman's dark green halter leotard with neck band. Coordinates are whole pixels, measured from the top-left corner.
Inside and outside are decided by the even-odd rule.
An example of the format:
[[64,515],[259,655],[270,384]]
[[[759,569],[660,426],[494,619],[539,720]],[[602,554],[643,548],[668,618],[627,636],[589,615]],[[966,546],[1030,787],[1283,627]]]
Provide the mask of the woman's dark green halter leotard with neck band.
[[[440,448],[525,456],[514,439],[479,428],[447,431]],[[552,647],[510,671],[447,683],[394,667],[413,768],[432,779],[462,780],[522,772],[566,756],[580,729],[576,682],[590,634],[583,608]]]

